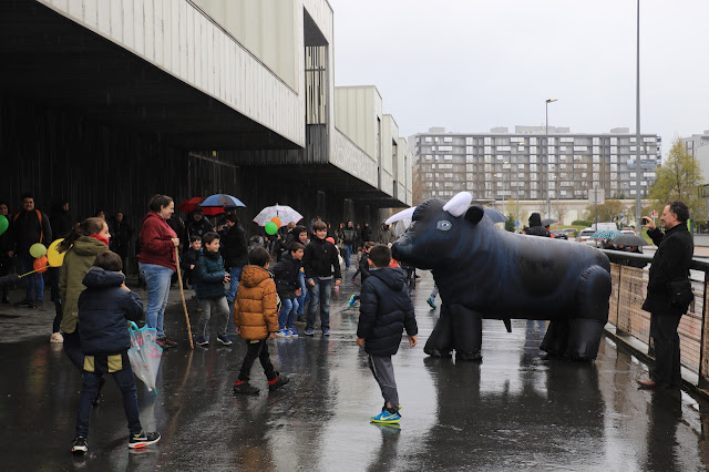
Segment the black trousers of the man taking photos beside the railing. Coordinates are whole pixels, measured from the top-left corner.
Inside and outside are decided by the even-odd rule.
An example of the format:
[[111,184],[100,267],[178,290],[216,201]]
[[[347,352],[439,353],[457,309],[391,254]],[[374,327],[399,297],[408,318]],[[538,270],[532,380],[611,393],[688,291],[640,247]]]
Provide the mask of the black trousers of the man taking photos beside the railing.
[[650,336],[655,340],[655,369],[650,376],[660,387],[680,387],[679,336],[677,327],[681,316],[650,314]]

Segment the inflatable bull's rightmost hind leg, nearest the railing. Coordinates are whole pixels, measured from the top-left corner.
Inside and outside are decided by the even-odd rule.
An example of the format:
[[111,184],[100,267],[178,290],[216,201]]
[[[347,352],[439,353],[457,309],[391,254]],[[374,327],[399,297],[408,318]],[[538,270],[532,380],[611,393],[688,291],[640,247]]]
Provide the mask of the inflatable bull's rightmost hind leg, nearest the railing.
[[568,345],[564,353],[574,360],[594,360],[608,321],[610,275],[600,266],[592,266],[580,277],[576,317],[569,319]]

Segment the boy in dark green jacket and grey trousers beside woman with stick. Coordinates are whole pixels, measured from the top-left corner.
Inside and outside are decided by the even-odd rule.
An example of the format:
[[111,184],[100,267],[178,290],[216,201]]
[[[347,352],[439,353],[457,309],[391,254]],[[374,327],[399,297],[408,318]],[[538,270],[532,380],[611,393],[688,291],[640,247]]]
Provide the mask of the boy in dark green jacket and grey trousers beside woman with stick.
[[195,267],[197,281],[197,299],[202,305],[202,316],[197,327],[197,346],[209,345],[209,318],[216,312],[217,340],[229,346],[232,340],[226,336],[229,324],[229,306],[226,302],[224,284],[229,281],[229,273],[224,270],[224,260],[219,254],[219,235],[209,232],[202,237],[202,254]]

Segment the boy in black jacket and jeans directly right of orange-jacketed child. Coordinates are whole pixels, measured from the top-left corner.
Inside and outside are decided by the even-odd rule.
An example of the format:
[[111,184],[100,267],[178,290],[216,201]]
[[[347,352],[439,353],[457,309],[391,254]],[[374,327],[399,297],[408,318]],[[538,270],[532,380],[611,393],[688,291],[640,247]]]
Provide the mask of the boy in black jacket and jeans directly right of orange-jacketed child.
[[298,334],[292,329],[298,315],[298,298],[300,296],[300,283],[298,274],[300,273],[300,261],[305,246],[300,243],[290,243],[288,252],[284,253],[280,261],[273,268],[274,279],[276,281],[276,291],[280,298],[281,309],[278,315],[278,331],[276,336],[280,338],[297,338]]

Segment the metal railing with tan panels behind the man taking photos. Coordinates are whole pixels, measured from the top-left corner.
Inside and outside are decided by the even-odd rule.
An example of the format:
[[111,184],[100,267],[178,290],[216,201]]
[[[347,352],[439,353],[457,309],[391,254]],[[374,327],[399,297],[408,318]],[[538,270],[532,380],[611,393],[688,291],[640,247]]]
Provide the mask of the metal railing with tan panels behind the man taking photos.
[[[643,254],[603,250],[610,259],[610,310],[608,322],[616,327],[619,337],[631,336],[648,346],[654,356],[650,339],[650,314],[643,310],[647,296],[649,271],[644,267],[653,257]],[[677,334],[680,342],[681,365],[698,376],[698,387],[709,387],[709,322],[707,320],[707,281],[709,261],[693,259],[690,269],[695,300],[681,317]],[[701,274],[698,274],[701,273]],[[701,280],[699,278],[702,278]]]

